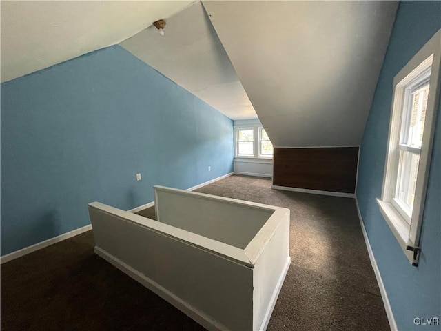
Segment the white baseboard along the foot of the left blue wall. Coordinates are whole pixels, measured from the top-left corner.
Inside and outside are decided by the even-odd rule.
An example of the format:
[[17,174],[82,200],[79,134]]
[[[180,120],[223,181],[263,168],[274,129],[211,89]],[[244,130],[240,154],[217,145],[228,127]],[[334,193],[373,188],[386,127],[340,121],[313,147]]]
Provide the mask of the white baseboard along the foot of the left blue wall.
[[[220,179],[224,179],[229,176],[232,176],[232,174],[234,174],[234,172],[230,172],[229,174],[224,174],[223,176],[220,176],[215,179],[212,179],[211,181],[206,181],[205,183],[193,186],[192,188],[187,188],[187,191],[197,190],[198,188],[202,188],[205,185],[208,185],[208,184],[214,183],[215,181],[220,181]],[[140,205],[139,207],[136,207],[136,208],[128,210],[128,211],[129,212],[139,212],[139,210],[143,210],[145,208],[150,208],[152,206],[154,206],[154,201],[152,201],[150,203],[146,203],[145,205]],[[78,234],[81,234],[81,233],[89,231],[89,230],[92,230],[92,224],[85,225],[82,228],[78,228],[78,229],[72,230],[70,232],[60,234],[57,237],[53,237],[53,238],[47,239],[45,241],[41,241],[39,243],[35,243],[34,245],[30,245],[28,247],[21,248],[21,250],[16,250],[15,252],[11,252],[9,254],[3,255],[3,257],[0,257],[0,264],[6,263],[8,261],[12,261],[14,259],[18,259],[19,257],[23,257],[26,254],[30,254],[32,252],[35,252],[36,250],[41,250],[42,248],[53,245],[54,243],[59,243],[60,241],[72,238]]]

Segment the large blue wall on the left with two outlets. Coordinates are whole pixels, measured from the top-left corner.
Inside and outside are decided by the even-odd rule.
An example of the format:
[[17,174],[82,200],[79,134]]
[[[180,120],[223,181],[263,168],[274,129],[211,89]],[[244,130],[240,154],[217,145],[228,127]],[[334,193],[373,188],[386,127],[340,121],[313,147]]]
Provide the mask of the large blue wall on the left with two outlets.
[[120,46],[3,83],[1,255],[89,224],[92,201],[232,172],[233,146],[230,119]]

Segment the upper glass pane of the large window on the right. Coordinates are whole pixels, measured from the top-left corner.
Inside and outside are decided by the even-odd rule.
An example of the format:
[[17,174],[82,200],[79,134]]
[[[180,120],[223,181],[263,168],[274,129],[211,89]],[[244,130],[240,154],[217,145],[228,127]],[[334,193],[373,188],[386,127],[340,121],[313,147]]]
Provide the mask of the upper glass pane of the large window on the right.
[[411,109],[407,145],[421,148],[424,120],[426,119],[429,84],[411,93]]

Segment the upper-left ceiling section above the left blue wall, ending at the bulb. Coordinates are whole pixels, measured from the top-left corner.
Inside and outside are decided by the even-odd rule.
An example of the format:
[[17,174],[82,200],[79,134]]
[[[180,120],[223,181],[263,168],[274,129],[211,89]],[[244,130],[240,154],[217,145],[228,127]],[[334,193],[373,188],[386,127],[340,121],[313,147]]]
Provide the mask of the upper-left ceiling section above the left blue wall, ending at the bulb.
[[119,43],[193,1],[1,1],[1,81]]

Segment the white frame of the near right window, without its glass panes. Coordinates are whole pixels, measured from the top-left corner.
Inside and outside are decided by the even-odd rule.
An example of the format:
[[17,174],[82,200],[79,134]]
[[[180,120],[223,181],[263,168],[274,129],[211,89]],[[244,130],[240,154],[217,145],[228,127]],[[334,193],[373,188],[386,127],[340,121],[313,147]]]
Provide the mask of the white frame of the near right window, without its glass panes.
[[[435,133],[435,119],[438,111],[438,99],[440,94],[440,52],[441,52],[441,30],[421,48],[421,50],[407,63],[393,79],[393,101],[391,121],[389,125],[389,140],[387,144],[386,165],[384,167],[384,178],[381,199],[377,199],[380,212],[387,221],[389,228],[395,235],[398,243],[412,265],[418,265],[420,257],[420,230],[424,212],[424,201],[427,190],[427,179],[431,151],[433,146],[433,135]],[[424,133],[421,149],[403,146],[402,142],[402,113],[404,101],[406,100],[407,88],[413,86],[413,81],[422,74],[424,70],[431,67],[430,89],[427,100],[426,115],[424,119]],[[421,81],[421,80],[420,80]],[[406,212],[400,208],[400,201],[394,199],[397,188],[398,163],[400,150],[408,149],[412,152],[419,152],[420,162],[418,166],[417,183],[411,217],[406,219]]]

